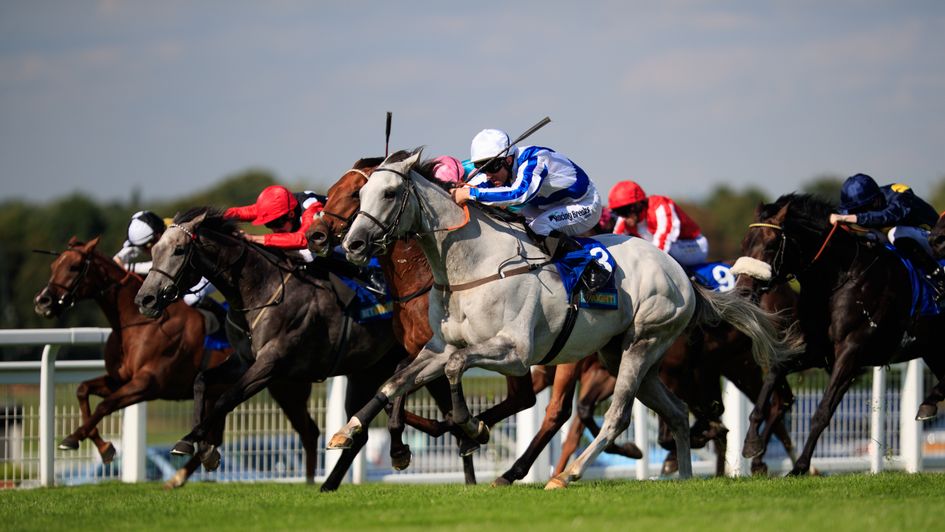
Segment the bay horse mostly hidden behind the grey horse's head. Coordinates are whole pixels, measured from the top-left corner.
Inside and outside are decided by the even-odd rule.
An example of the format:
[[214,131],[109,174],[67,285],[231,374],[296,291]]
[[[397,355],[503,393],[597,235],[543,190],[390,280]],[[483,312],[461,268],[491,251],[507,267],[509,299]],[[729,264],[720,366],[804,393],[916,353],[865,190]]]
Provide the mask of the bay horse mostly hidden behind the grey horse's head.
[[[367,183],[368,176],[382,158],[360,159],[351,170],[328,190],[328,202],[320,219],[312,224],[308,232],[309,249],[317,255],[331,253],[340,243],[341,237],[348,230],[350,221],[360,208],[358,191]],[[404,346],[410,359],[433,336],[428,314],[429,291],[433,287],[433,274],[423,251],[413,240],[398,240],[391,249],[378,257],[384,276],[394,298],[394,335]],[[407,361],[409,362],[409,360]],[[440,410],[448,414],[451,405],[449,383],[445,377],[426,384]],[[479,418],[486,427],[492,427],[499,421],[530,408],[535,404],[532,381],[528,375],[507,378],[506,398],[483,412]],[[409,448],[403,444],[401,436],[404,424],[408,424],[433,436],[440,436],[450,430],[449,422],[438,422],[416,416],[404,410],[404,399],[395,400],[388,428],[391,432],[391,459],[396,469],[404,469],[410,463]],[[461,435],[461,431],[456,431]],[[488,433],[481,435],[478,443],[488,439]],[[461,454],[465,457],[476,450],[478,444],[468,439],[461,439]],[[471,460],[464,459],[466,481],[475,482],[475,472]]]

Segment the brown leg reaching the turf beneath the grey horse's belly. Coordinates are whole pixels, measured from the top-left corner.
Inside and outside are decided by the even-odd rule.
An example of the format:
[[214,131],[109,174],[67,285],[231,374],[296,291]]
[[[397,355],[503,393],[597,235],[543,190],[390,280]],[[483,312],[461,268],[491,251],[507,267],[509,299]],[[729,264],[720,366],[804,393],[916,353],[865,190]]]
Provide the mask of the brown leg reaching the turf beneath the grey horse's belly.
[[508,486],[516,480],[525,478],[541,451],[558,433],[565,421],[571,417],[571,404],[574,402],[574,387],[577,384],[580,365],[580,362],[562,364],[555,370],[551,400],[548,408],[545,409],[545,419],[541,422],[541,428],[538,429],[538,433],[532,438],[522,456],[512,464],[508,471],[492,482],[493,486]]

